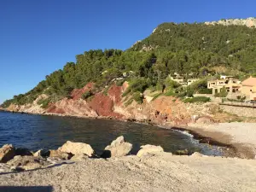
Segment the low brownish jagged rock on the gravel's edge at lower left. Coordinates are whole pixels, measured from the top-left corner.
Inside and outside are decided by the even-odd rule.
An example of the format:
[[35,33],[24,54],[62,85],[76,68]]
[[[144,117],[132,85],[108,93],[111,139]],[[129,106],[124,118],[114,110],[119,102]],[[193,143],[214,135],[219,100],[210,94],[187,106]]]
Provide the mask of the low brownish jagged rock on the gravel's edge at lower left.
[[49,162],[33,156],[17,155],[13,160],[9,160],[7,164],[12,166],[14,170],[17,170],[17,167],[20,170],[32,170],[48,166]]

